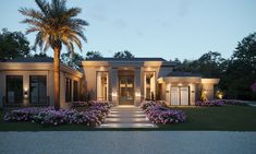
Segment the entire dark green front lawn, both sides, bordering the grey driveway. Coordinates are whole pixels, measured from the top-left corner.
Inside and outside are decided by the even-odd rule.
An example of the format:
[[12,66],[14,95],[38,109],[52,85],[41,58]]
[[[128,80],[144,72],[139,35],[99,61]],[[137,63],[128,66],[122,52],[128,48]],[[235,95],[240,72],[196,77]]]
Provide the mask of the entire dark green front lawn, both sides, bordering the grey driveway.
[[183,123],[159,126],[157,129],[97,129],[83,125],[65,125],[42,127],[32,122],[4,122],[0,110],[0,131],[131,131],[131,130],[224,130],[256,131],[256,107],[222,106],[222,107],[179,107],[187,115]]

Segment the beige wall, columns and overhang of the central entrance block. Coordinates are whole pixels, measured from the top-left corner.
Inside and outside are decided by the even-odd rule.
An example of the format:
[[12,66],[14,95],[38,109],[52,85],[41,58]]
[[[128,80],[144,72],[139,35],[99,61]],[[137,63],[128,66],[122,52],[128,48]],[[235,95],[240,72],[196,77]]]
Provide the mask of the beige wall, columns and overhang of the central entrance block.
[[[119,73],[130,70],[134,72],[134,105],[139,106],[145,99],[145,72],[155,72],[155,87],[159,75],[166,75],[173,70],[169,64],[161,68],[161,61],[83,61],[84,82],[86,82],[87,93],[92,99],[97,99],[97,71],[109,72],[109,100],[114,106],[119,105]],[[167,63],[168,64],[168,63]],[[156,98],[156,91],[155,91]]]

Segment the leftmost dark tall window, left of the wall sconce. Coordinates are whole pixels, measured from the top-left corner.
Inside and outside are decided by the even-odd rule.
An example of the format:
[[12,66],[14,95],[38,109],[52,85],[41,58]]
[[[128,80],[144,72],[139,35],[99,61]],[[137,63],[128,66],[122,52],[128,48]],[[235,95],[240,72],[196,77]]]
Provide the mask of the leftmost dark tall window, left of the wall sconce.
[[23,76],[8,75],[7,76],[7,103],[23,102]]

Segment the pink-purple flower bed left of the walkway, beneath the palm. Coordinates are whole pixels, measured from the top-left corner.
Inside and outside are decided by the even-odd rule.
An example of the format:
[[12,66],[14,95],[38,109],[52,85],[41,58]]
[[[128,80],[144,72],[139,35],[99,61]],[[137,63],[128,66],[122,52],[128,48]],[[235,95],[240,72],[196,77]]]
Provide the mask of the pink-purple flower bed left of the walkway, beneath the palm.
[[110,105],[95,102],[87,110],[46,108],[22,108],[4,115],[4,121],[32,121],[44,126],[59,126],[65,123],[98,126],[109,114]]

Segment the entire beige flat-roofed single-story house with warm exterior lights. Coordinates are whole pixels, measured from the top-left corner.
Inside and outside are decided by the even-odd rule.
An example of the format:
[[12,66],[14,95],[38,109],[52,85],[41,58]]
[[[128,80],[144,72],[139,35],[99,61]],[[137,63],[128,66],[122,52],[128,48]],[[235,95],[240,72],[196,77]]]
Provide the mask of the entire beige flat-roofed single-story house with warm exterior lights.
[[[53,105],[53,59],[24,58],[0,62],[0,102],[4,105]],[[214,98],[219,79],[175,72],[162,58],[101,58],[81,62],[82,71],[61,63],[61,107],[89,96],[114,106],[159,99],[169,105],[195,105],[200,93]]]

